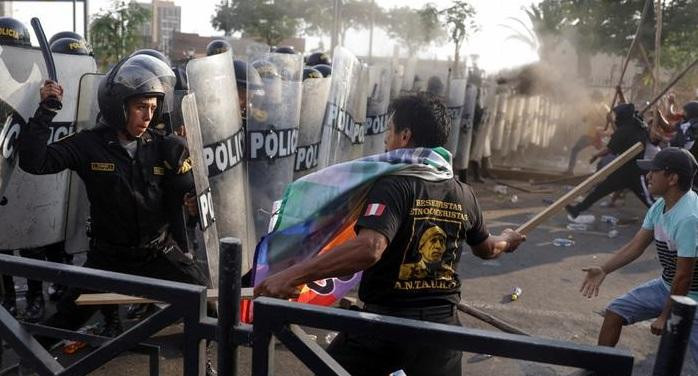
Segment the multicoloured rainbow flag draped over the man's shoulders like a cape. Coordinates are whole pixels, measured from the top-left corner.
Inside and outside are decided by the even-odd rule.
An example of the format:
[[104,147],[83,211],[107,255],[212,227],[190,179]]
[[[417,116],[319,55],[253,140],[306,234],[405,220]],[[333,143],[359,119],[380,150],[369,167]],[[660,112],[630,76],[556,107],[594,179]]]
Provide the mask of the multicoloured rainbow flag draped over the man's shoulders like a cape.
[[[273,230],[255,250],[254,285],[356,237],[354,225],[366,196],[373,183],[386,175],[451,179],[451,154],[441,147],[397,149],[332,165],[292,182],[284,192]],[[361,273],[356,273],[309,283],[298,301],[329,306],[360,279]]]

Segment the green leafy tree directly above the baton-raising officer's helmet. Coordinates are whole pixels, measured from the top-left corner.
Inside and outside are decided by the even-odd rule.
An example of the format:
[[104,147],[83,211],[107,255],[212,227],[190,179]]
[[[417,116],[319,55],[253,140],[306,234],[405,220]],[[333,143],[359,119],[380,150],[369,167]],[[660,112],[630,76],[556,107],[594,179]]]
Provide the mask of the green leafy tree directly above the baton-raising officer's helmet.
[[112,9],[90,23],[90,43],[102,68],[116,64],[140,45],[139,28],[150,19],[150,10],[135,2],[116,0]]

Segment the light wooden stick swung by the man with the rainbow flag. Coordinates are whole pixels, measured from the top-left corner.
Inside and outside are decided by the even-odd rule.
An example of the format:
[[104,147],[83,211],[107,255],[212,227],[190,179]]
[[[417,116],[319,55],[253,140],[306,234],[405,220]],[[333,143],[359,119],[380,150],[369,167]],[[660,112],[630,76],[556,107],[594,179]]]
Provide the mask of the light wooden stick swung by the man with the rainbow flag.
[[601,180],[608,177],[608,175],[611,175],[614,171],[619,169],[625,163],[632,160],[636,155],[638,155],[642,151],[642,149],[644,149],[644,146],[642,145],[642,143],[641,142],[636,143],[630,149],[626,150],[623,154],[616,157],[616,159],[611,161],[611,163],[604,166],[604,168],[602,168],[601,170],[597,171],[595,174],[591,175],[586,180],[584,180],[582,182],[582,184],[579,184],[574,189],[567,192],[564,196],[560,197],[557,201],[555,201],[547,209],[538,213],[535,217],[531,218],[528,222],[521,225],[518,229],[516,229],[516,231],[521,233],[521,234],[529,233],[531,230],[536,228],[536,226],[543,223],[548,218],[555,215],[555,213],[557,213],[558,211],[563,209],[565,205],[572,202],[574,200],[574,198],[577,197],[579,194],[586,192],[591,187],[595,186],[598,182],[600,182]]

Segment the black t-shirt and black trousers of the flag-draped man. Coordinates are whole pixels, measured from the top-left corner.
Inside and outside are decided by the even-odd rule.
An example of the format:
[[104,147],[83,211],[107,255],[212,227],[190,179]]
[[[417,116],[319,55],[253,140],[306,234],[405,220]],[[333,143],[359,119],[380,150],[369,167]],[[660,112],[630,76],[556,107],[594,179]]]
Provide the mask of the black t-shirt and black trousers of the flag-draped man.
[[[364,310],[460,325],[458,262],[464,242],[489,237],[474,192],[456,179],[425,181],[387,176],[371,189],[356,230],[371,229],[389,241],[381,259],[363,272]],[[393,342],[340,333],[328,352],[352,375],[460,375],[459,351],[409,341]]]

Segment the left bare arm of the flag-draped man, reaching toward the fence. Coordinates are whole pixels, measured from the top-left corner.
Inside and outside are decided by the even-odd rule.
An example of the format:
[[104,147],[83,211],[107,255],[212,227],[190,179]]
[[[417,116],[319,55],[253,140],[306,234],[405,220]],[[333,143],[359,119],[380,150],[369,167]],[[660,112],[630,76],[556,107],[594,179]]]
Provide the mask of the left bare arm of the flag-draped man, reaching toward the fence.
[[305,283],[351,275],[369,268],[380,260],[387,247],[388,239],[385,235],[371,229],[361,229],[355,239],[332,251],[265,279],[254,289],[254,294],[282,299],[297,297],[300,293],[299,287]]

